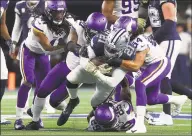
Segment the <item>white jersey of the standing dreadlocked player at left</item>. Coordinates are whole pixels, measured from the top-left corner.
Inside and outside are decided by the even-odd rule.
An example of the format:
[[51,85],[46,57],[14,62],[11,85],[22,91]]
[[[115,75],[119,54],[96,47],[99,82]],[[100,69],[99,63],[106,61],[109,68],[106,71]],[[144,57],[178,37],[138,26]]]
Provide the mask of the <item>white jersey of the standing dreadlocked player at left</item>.
[[[71,24],[73,24],[73,19],[69,20]],[[38,31],[40,33],[45,34],[45,36],[50,41],[51,45],[56,46],[60,38],[66,37],[67,42],[67,34],[63,31],[60,34],[56,34],[55,32],[51,31],[50,28],[46,23],[43,22],[41,18],[37,18],[32,23],[32,29]],[[39,39],[37,36],[34,35],[33,31],[30,30],[28,33],[28,37],[25,40],[25,45],[32,51],[37,54],[44,54],[44,50],[39,43]]]

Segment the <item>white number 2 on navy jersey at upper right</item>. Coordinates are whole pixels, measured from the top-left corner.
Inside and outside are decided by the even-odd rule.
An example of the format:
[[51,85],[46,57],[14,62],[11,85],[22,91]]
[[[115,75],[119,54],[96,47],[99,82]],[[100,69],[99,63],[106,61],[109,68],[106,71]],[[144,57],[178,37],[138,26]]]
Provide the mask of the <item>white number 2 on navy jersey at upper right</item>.
[[159,16],[159,12],[154,7],[149,7],[149,19],[152,27],[160,27],[161,20]]

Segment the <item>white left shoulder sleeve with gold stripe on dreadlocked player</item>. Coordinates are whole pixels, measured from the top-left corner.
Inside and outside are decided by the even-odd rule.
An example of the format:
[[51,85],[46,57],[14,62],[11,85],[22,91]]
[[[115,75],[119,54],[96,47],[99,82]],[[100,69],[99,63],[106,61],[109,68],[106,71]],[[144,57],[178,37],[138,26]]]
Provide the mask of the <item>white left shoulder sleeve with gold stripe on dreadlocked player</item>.
[[32,22],[32,27],[34,31],[44,33],[44,23],[40,18],[37,18]]

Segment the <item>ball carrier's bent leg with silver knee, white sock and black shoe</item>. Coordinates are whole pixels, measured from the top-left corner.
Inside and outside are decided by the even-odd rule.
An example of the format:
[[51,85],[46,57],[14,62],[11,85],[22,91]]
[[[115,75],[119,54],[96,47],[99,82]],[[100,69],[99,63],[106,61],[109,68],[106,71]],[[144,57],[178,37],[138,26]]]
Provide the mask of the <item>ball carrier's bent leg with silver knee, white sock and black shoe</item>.
[[61,126],[65,124],[73,112],[73,109],[79,104],[79,98],[77,95],[78,85],[80,83],[95,83],[95,78],[86,72],[81,65],[77,66],[67,75],[67,90],[70,96],[70,100],[67,104],[66,109],[61,113],[57,125]]

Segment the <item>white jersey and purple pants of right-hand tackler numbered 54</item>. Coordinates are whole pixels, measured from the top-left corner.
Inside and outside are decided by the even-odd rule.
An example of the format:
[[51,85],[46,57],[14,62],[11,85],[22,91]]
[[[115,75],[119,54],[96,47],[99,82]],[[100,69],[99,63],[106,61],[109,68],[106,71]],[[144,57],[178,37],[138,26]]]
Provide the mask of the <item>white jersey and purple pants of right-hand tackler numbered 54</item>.
[[159,90],[161,80],[170,71],[170,60],[165,57],[163,50],[150,36],[139,35],[129,45],[136,48],[137,52],[149,49],[142,66],[142,74],[135,81],[137,106],[168,102],[168,97],[165,94],[159,94]]

